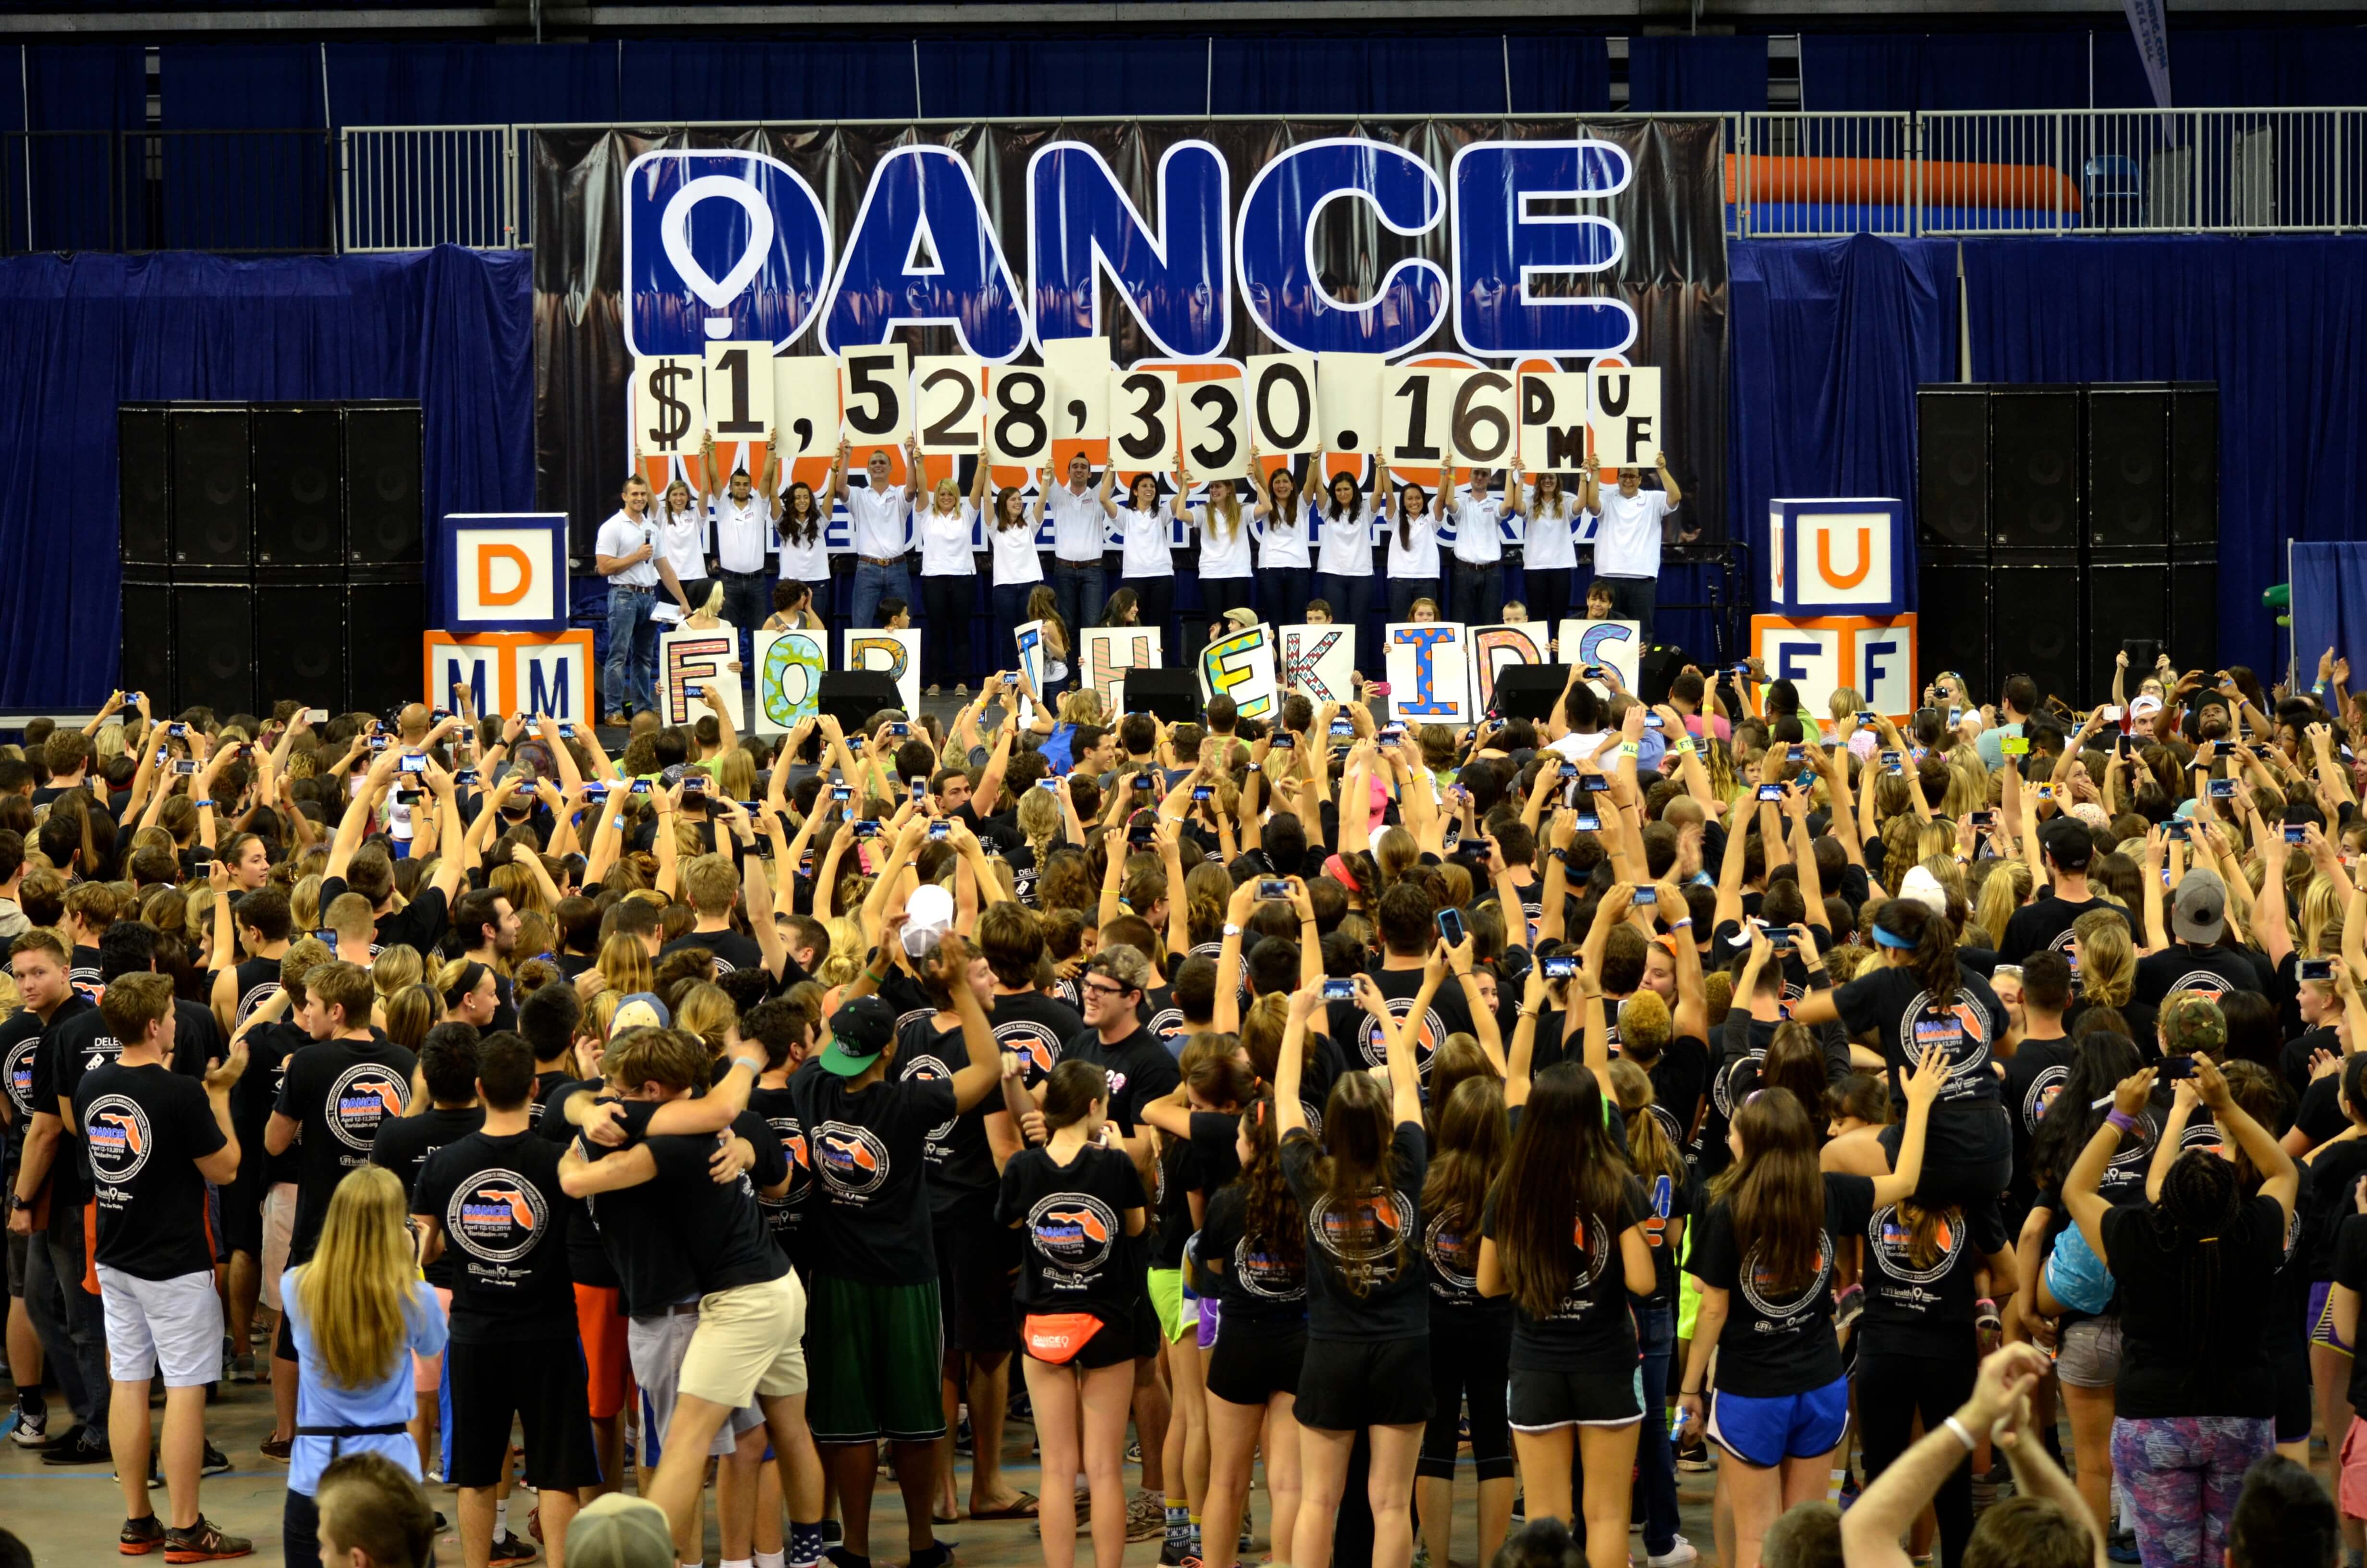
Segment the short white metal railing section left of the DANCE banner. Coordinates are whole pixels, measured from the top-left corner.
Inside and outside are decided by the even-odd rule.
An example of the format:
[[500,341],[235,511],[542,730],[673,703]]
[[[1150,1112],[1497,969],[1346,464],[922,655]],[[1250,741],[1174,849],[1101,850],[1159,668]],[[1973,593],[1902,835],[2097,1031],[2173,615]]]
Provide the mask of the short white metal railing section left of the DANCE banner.
[[525,244],[511,126],[348,126],[338,152],[348,251]]

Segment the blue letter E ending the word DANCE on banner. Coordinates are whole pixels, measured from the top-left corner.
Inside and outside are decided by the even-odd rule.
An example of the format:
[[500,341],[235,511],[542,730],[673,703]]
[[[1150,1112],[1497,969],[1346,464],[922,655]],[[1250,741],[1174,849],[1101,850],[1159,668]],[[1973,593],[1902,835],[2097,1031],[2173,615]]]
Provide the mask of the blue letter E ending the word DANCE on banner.
[[1465,353],[1600,355],[1636,341],[1626,301],[1529,291],[1536,277],[1602,272],[1626,253],[1619,227],[1576,204],[1633,178],[1612,142],[1472,142],[1456,154],[1456,341]]

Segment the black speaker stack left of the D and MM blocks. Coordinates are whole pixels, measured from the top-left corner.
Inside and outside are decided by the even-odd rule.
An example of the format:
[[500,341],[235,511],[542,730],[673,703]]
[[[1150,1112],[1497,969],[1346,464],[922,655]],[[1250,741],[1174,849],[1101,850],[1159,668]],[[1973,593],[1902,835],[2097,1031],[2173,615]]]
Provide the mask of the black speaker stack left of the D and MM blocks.
[[156,713],[419,694],[417,403],[123,403],[123,677]]

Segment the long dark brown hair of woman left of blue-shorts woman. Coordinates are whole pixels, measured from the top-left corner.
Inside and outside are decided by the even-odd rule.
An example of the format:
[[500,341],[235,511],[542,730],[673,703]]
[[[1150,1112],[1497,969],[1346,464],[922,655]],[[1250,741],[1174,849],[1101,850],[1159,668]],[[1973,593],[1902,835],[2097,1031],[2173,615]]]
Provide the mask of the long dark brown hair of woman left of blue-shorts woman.
[[1584,1239],[1617,1227],[1631,1180],[1593,1071],[1560,1061],[1539,1073],[1496,1180],[1496,1251],[1522,1312],[1560,1310]]

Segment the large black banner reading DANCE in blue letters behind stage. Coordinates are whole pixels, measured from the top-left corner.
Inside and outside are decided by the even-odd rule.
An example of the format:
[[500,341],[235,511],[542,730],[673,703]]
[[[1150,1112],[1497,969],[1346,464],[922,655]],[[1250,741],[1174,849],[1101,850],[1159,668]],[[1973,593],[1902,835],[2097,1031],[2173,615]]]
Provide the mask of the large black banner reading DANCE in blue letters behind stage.
[[[1721,126],[535,130],[537,502],[582,557],[634,462],[696,467],[710,441],[760,471],[776,441],[817,483],[840,436],[907,433],[963,486],[989,462],[1027,488],[1075,450],[1217,476],[1252,433],[1427,478],[1510,445],[1517,377],[1631,365],[1657,372],[1650,438],[1683,455],[1692,526],[1718,531]],[[1389,372],[1347,377],[1352,355]],[[1581,412],[1610,410],[1565,433]],[[826,540],[850,550],[845,512]]]

